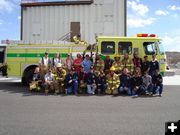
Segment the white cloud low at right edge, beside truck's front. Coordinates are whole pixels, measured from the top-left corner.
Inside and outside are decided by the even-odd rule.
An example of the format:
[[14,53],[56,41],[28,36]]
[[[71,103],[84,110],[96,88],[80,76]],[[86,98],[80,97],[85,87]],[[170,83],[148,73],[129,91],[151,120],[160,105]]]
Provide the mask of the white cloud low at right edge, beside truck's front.
[[163,45],[166,51],[179,51],[180,52],[180,35],[162,37]]

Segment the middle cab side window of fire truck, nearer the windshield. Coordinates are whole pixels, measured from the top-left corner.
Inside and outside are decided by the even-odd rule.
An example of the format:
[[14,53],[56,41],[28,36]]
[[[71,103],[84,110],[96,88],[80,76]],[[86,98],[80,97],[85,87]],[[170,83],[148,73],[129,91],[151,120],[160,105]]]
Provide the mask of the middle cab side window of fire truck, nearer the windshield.
[[124,55],[126,53],[132,54],[132,43],[131,42],[119,42],[118,53]]

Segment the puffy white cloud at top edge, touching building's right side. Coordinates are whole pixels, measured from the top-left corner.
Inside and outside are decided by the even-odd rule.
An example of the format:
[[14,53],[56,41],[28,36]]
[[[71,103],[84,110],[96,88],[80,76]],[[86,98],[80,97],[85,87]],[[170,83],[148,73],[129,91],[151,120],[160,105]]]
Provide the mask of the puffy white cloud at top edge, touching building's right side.
[[146,16],[149,12],[149,8],[146,5],[140,4],[139,0],[128,1],[127,6],[130,7],[137,15]]

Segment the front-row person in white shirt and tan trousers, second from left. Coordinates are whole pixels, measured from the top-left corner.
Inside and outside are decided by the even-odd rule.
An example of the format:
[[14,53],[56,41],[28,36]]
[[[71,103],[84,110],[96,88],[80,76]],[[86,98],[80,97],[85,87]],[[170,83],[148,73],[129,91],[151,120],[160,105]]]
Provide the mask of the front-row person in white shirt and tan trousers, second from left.
[[54,74],[52,73],[52,69],[48,69],[48,73],[44,76],[44,86],[45,86],[45,94],[48,94],[51,91],[57,91],[58,84],[55,81]]

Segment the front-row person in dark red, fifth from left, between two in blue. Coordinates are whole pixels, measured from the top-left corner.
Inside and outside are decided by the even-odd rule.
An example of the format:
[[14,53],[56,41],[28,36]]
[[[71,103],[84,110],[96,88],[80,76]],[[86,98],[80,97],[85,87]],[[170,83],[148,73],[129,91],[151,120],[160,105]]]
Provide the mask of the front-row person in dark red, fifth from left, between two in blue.
[[81,66],[81,71],[78,73],[79,93],[84,93],[85,94],[85,89],[87,87],[86,77],[87,77],[87,74],[84,71],[84,67]]

